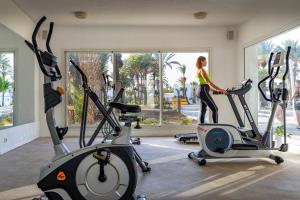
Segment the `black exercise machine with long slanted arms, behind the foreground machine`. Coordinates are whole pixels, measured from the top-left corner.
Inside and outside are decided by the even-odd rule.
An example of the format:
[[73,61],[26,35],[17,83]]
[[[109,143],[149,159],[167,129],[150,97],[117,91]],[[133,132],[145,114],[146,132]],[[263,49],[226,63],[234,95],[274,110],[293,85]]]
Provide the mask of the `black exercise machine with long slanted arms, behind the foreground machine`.
[[[82,112],[82,123],[80,126],[80,137],[79,137],[80,148],[91,146],[93,144],[93,142],[95,141],[95,139],[97,138],[99,131],[103,128],[103,126],[105,126],[104,128],[106,128],[106,131],[102,132],[103,136],[104,136],[104,138],[101,142],[102,144],[105,144],[107,142],[107,140],[114,143],[115,139],[118,138],[119,135],[128,135],[129,141],[130,141],[130,143],[132,143],[131,124],[132,124],[132,122],[135,122],[138,120],[138,116],[135,114],[140,113],[141,108],[136,105],[126,105],[126,104],[118,103],[121,96],[124,93],[124,88],[120,89],[120,91],[117,93],[117,95],[113,99],[113,101],[107,105],[108,107],[105,107],[105,104],[101,106],[100,105],[101,101],[100,101],[99,97],[89,87],[86,75],[83,73],[83,71],[80,69],[80,67],[72,59],[70,60],[70,62],[72,64],[72,66],[75,67],[75,69],[79,72],[79,74],[81,76],[82,87],[83,87],[83,91],[84,91],[83,108],[84,108],[84,111],[86,111],[86,112]],[[86,142],[85,132],[86,132],[87,108],[88,108],[89,97],[92,99],[92,101],[95,103],[96,107],[99,109],[99,111],[102,114],[106,112],[105,114],[109,115],[110,118],[114,120],[116,126],[118,126],[118,127],[121,126],[119,121],[122,123],[125,123],[125,126],[121,130],[122,134],[115,132],[114,126],[112,126],[111,123],[107,120],[107,117],[105,115],[103,115],[104,118],[99,123],[98,127],[92,134],[91,138]],[[137,107],[138,107],[138,109],[137,109]],[[119,109],[121,111],[119,120],[117,120],[116,116],[113,113],[114,108]],[[103,112],[101,110],[105,110],[105,112]],[[126,114],[128,112],[134,113],[134,114]],[[127,142],[127,138],[125,138],[125,139],[126,139],[126,141],[123,141],[124,143]],[[135,160],[136,160],[137,164],[139,165],[139,167],[141,168],[141,170],[145,173],[150,172],[151,167],[149,167],[149,163],[145,162],[142,159],[142,157],[139,155],[139,153],[136,151],[136,149],[134,147],[132,147],[132,148],[133,148]]]

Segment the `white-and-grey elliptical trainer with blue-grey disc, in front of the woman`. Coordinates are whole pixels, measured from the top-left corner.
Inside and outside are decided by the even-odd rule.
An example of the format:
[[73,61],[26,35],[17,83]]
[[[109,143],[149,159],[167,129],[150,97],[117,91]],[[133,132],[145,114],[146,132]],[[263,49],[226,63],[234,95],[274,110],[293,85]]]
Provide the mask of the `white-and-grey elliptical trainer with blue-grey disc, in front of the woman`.
[[[288,47],[286,56],[284,58],[284,52],[277,52],[273,59],[274,53],[271,53],[268,62],[268,76],[262,79],[258,88],[262,96],[266,101],[271,102],[272,112],[269,117],[267,129],[264,134],[259,133],[254,119],[251,115],[249,107],[243,97],[252,87],[252,81],[244,81],[240,86],[227,90],[227,96],[229,102],[234,110],[234,113],[238,119],[240,127],[236,127],[230,124],[199,124],[197,128],[198,140],[200,144],[199,152],[191,152],[188,154],[190,159],[198,162],[203,166],[206,164],[206,159],[216,158],[270,158],[277,164],[284,162],[283,158],[273,154],[274,150],[286,152],[288,151],[288,144],[286,141],[286,101],[288,98],[288,92],[286,89],[286,77],[289,73],[289,54],[291,47]],[[285,61],[285,63],[284,63]],[[285,66],[284,75],[282,77],[282,86],[280,88],[274,88],[274,80],[279,74],[280,68]],[[270,96],[267,97],[262,89],[262,85],[268,82],[268,88]],[[245,111],[247,119],[252,128],[247,129],[240,117],[238,109],[233,101],[233,95],[237,95],[241,102],[241,105]],[[274,121],[274,115],[278,104],[283,103],[284,113],[284,143],[280,147],[275,147],[272,135],[272,124]]]

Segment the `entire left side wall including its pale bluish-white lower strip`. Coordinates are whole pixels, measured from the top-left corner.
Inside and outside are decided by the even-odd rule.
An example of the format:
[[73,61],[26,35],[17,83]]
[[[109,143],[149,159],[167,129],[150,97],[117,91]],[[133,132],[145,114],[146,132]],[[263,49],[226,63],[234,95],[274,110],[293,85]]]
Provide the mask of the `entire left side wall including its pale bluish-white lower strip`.
[[[1,25],[2,24],[2,25]],[[0,50],[15,51],[15,127],[0,130],[0,155],[38,137],[39,69],[25,46],[34,23],[10,0],[1,0]]]

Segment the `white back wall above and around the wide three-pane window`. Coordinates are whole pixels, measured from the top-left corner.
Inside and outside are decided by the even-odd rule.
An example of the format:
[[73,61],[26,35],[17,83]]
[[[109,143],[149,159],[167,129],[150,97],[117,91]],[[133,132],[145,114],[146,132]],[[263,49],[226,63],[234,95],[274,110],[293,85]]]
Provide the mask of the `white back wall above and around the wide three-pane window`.
[[[47,28],[47,27],[45,27]],[[211,75],[216,84],[230,87],[235,80],[236,41],[226,39],[227,27],[93,27],[56,26],[52,47],[60,59],[65,77],[64,51],[107,50],[107,51],[210,51]],[[197,58],[195,58],[196,61]],[[65,79],[61,84],[65,85]],[[232,122],[231,109],[224,97],[216,97],[222,122]],[[43,106],[43,105],[41,105]],[[41,133],[47,136],[43,108],[40,108]],[[226,114],[225,114],[226,113]],[[56,110],[57,123],[64,125],[65,102]]]

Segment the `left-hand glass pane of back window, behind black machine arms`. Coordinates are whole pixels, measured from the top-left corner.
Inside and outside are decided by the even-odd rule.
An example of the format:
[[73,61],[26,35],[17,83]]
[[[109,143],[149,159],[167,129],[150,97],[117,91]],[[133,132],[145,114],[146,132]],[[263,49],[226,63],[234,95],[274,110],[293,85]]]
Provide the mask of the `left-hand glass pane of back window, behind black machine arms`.
[[[105,88],[104,77],[112,77],[112,54],[102,52],[67,52],[67,120],[69,125],[80,125],[83,88],[80,74],[70,65],[72,58],[79,63],[80,68],[86,74],[89,86],[103,101],[106,94],[112,94],[112,88]],[[104,74],[104,76],[103,76]],[[112,95],[109,95],[111,98]],[[101,120],[99,110],[94,103],[89,100],[87,123],[96,125]]]

